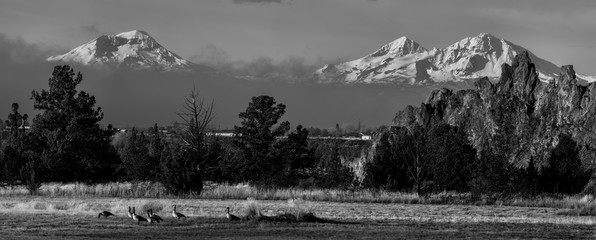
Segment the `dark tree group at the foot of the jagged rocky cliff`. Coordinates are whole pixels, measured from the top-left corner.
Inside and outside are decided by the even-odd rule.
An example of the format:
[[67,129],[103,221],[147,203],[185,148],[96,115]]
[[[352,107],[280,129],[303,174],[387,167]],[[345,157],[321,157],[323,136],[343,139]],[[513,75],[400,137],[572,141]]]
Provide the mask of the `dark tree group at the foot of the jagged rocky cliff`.
[[[365,164],[367,187],[413,190],[421,195],[436,191],[470,192],[472,197],[581,192],[594,169],[582,165],[579,146],[566,134],[559,135],[547,164],[527,166],[509,162],[516,139],[513,125],[501,125],[494,141],[477,151],[466,133],[456,126],[386,127],[380,131],[376,153]],[[593,190],[592,190],[593,191]]]

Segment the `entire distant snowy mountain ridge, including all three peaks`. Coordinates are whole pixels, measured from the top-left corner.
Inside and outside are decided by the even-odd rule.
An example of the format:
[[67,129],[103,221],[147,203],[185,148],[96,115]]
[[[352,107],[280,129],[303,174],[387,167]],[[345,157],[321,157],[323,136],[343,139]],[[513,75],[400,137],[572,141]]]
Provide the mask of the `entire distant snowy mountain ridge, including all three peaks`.
[[[501,76],[501,65],[511,62],[515,55],[524,51],[527,50],[488,33],[464,38],[445,49],[431,50],[412,39],[401,37],[363,58],[325,65],[314,72],[311,82],[469,88],[471,81],[467,80],[485,76],[497,80]],[[528,53],[542,81],[558,78],[558,66]],[[102,35],[46,60],[110,69],[222,73],[215,68],[183,59],[140,30]],[[272,71],[263,76],[234,77],[298,82],[296,76],[283,71]],[[596,77],[581,74],[577,74],[577,78],[580,82],[596,81]]]

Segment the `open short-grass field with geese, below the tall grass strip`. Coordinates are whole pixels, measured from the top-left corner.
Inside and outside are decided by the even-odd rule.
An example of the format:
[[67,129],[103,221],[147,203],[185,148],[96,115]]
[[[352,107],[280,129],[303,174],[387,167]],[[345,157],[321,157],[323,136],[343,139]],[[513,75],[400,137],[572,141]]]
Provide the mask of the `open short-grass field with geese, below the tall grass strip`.
[[[225,207],[243,215],[247,201],[193,199],[14,197],[0,200],[2,239],[594,239],[596,217],[561,216],[553,208],[300,202],[329,223],[228,222]],[[175,220],[171,205],[186,214]],[[165,222],[149,225],[126,217],[153,208]],[[287,201],[259,201],[264,215],[291,211]],[[116,214],[97,218],[101,210]]]

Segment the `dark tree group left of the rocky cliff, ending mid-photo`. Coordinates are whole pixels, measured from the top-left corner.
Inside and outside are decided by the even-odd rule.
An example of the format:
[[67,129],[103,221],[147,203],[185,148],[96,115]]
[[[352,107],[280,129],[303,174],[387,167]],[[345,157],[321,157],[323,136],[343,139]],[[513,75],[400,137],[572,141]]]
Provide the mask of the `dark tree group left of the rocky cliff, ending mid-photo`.
[[[311,143],[309,132],[279,122],[286,106],[270,96],[253,97],[239,114],[236,137],[208,136],[213,101],[194,89],[178,114],[182,131],[167,138],[157,124],[126,133],[108,125],[95,97],[77,91],[83,77],[57,66],[49,89],[33,91],[32,123],[12,105],[0,151],[0,182],[25,184],[34,193],[44,182],[155,181],[173,194],[200,194],[204,181],[250,182],[262,187],[344,186],[353,173],[342,164],[342,141]],[[30,130],[26,127],[30,125]],[[283,138],[281,138],[283,136]]]

